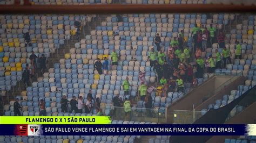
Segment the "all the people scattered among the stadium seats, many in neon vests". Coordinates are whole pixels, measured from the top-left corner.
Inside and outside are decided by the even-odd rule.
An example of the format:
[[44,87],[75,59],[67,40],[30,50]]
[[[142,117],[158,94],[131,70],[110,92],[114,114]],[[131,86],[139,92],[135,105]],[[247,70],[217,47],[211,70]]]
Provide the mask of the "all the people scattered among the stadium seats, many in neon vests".
[[[75,27],[79,27],[80,23],[78,20],[75,22]],[[197,78],[202,78],[205,72],[214,73],[216,68],[225,68],[227,62],[231,63],[231,52],[230,49],[225,47],[225,34],[220,30],[217,36],[217,30],[213,25],[210,25],[209,30],[204,25],[195,27],[192,29],[191,33],[192,47],[187,46],[187,41],[184,38],[184,31],[181,30],[178,33],[178,37],[174,37],[170,41],[170,47],[167,51],[162,50],[162,42],[160,34],[157,33],[154,38],[154,44],[156,45],[156,51],[154,48],[148,52],[148,60],[150,61],[150,66],[153,67],[154,71],[157,73],[157,82],[148,83],[145,78],[145,72],[139,71],[139,81],[140,85],[138,87],[138,98],[139,101],[144,101],[146,109],[152,109],[152,97],[151,92],[160,87],[161,91],[158,92],[157,96],[167,97],[168,92],[184,92],[185,83],[190,83],[191,87],[197,86]],[[28,39],[29,40],[29,39]],[[213,42],[218,42],[219,47],[215,49],[215,54],[210,55],[207,58],[202,56],[202,53],[206,51],[207,48],[212,47]],[[221,49],[221,50],[219,50]],[[98,74],[108,74],[108,70],[113,69],[117,66],[119,55],[113,49],[111,53],[111,62],[109,62],[108,57],[104,57],[104,61],[101,62],[97,59],[94,68],[98,71]],[[24,83],[29,86],[29,79],[35,75],[35,69],[37,68],[36,62],[39,62],[39,69],[41,73],[44,73],[46,68],[46,58],[44,54],[37,60],[37,55],[34,52],[30,55],[30,65],[26,65],[23,72]],[[241,59],[241,45],[236,42],[235,47],[235,59]],[[111,64],[111,69],[109,65]],[[113,106],[118,108],[124,108],[125,117],[130,118],[132,101],[134,98],[130,96],[130,87],[133,86],[129,82],[129,78],[122,83],[122,88],[124,90],[124,95],[114,96]],[[80,96],[73,97],[71,101],[68,101],[64,95],[60,101],[62,112],[75,112],[82,113],[83,109],[85,113],[92,113],[93,109],[97,110],[97,115],[103,115],[102,109],[100,109],[100,98],[94,99],[91,94],[91,90],[86,97],[86,103],[83,102],[83,97]],[[71,108],[69,110],[68,104]],[[18,112],[21,106],[18,101],[15,102],[15,115],[21,115]],[[119,112],[118,108],[114,108],[113,115]],[[45,116],[45,102],[40,101],[40,116]],[[151,111],[147,111],[147,115],[151,116]]]

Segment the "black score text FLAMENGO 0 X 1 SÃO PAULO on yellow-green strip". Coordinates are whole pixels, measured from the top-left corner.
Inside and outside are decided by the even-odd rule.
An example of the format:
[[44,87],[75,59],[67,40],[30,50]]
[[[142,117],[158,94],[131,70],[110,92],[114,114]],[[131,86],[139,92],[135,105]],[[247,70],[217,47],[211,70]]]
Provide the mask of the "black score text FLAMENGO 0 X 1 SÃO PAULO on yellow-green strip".
[[27,123],[94,123],[95,118],[26,118]]

